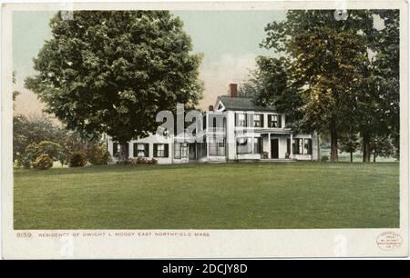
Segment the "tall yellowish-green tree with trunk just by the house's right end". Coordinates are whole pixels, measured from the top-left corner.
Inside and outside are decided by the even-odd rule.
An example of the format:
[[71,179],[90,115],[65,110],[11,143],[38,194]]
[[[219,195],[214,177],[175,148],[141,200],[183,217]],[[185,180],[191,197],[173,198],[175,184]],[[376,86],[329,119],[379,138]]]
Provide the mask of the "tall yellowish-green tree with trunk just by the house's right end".
[[366,58],[363,35],[354,20],[338,20],[333,10],[288,11],[286,20],[265,28],[262,46],[292,61],[292,74],[301,89],[305,129],[329,132],[331,160],[337,160],[338,138],[351,114]]

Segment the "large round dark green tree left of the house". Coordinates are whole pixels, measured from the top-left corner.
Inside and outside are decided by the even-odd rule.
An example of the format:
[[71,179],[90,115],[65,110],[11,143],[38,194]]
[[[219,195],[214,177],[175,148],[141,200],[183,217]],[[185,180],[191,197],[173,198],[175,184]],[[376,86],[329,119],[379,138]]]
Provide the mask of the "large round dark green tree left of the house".
[[168,11],[75,11],[58,13],[53,38],[35,59],[39,74],[26,87],[46,112],[81,134],[106,133],[121,145],[155,132],[156,114],[177,103],[197,104],[200,55]]

